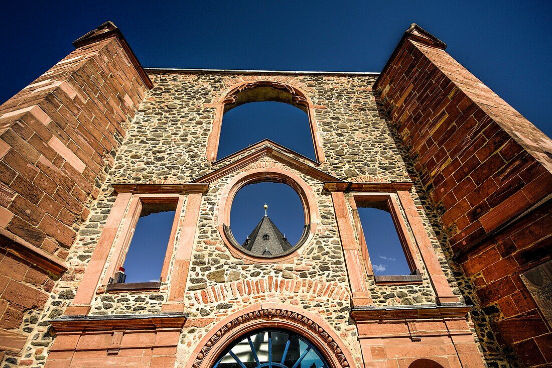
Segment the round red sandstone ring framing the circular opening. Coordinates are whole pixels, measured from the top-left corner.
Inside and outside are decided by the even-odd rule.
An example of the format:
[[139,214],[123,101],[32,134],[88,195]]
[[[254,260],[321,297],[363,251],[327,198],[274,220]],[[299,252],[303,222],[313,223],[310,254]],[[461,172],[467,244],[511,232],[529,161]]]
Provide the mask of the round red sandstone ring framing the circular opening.
[[230,210],[232,208],[232,202],[236,196],[236,193],[248,184],[264,181],[285,183],[297,192],[303,206],[305,224],[309,225],[308,232],[305,233],[305,238],[300,240],[300,242],[301,244],[309,243],[316,233],[316,228],[320,223],[319,208],[315,193],[312,191],[312,188],[298,175],[295,175],[291,171],[280,169],[279,167],[259,167],[257,169],[247,170],[234,177],[232,181],[226,185],[224,192],[222,192],[222,199],[219,203],[219,212],[216,217],[216,222],[220,236],[233,256],[243,259],[249,263],[274,264],[287,261],[297,256],[300,246],[294,246],[291,253],[278,257],[264,258],[253,256],[242,251],[240,249],[241,247],[236,246],[234,244],[235,241],[231,241],[231,239],[226,235],[224,229],[225,225],[227,226],[230,224]]

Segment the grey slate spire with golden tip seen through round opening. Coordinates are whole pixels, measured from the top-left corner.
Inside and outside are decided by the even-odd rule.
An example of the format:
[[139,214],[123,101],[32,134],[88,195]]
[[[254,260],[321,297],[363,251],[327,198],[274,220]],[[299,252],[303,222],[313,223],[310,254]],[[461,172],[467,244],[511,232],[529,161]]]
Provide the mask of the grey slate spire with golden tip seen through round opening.
[[243,242],[243,248],[260,256],[275,256],[293,248],[267,215],[268,206],[264,205],[264,216]]

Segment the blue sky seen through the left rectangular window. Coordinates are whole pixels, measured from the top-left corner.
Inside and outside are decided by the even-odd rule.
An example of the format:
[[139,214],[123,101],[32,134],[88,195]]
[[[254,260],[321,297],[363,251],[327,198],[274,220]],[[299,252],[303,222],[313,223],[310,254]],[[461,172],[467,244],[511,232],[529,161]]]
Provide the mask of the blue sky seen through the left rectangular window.
[[176,211],[140,217],[126,254],[125,282],[159,281]]

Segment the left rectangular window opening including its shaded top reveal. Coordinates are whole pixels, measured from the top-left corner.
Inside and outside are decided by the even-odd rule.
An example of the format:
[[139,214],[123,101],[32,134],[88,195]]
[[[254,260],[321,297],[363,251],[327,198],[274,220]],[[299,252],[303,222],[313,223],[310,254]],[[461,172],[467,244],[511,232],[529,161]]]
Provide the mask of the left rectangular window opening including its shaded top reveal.
[[127,248],[123,266],[114,276],[115,283],[160,282],[167,247],[172,246],[168,242],[177,202],[177,198],[141,198],[140,218]]

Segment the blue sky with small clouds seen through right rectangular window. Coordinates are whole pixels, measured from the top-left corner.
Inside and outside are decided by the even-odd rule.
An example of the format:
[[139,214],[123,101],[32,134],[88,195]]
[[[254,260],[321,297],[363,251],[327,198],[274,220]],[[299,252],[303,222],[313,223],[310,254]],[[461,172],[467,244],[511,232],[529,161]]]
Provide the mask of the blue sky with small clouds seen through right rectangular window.
[[358,208],[374,275],[410,275],[391,214],[381,209]]

